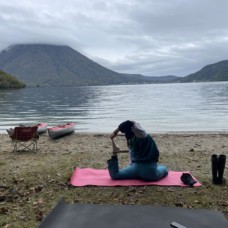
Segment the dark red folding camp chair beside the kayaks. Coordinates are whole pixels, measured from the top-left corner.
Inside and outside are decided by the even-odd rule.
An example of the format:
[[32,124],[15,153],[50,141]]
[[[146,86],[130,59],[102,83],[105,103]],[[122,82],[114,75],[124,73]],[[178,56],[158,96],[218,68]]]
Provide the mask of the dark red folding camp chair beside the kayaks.
[[37,126],[15,127],[13,132],[9,134],[13,142],[13,151],[28,150],[36,152],[39,139],[37,129]]

